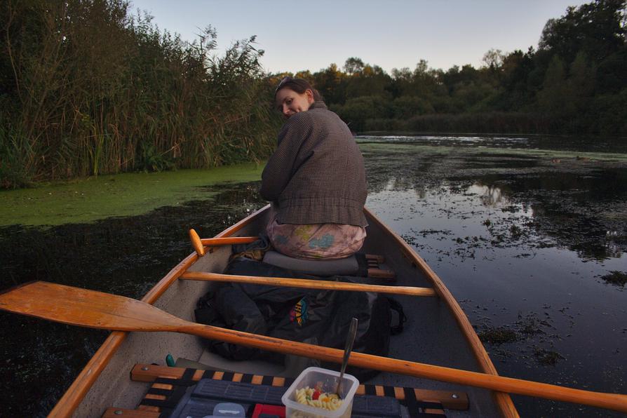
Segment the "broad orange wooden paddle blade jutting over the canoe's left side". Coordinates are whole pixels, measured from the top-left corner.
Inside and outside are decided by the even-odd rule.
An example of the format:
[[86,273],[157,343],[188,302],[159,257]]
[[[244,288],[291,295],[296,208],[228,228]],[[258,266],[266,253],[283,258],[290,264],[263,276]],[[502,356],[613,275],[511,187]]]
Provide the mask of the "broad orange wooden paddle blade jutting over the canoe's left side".
[[0,294],[0,309],[112,331],[177,331],[187,324],[139,300],[44,281],[25,283]]

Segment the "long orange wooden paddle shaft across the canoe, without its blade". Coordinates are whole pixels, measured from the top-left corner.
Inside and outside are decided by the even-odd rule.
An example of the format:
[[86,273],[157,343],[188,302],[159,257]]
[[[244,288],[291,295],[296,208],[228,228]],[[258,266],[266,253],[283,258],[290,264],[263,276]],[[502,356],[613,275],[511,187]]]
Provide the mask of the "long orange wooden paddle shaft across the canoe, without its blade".
[[[344,352],[339,349],[314,346],[302,342],[292,342],[264,335],[249,334],[248,332],[225,330],[224,328],[217,328],[210,325],[189,325],[184,327],[180,332],[186,332],[208,339],[217,339],[232,344],[255,347],[262,350],[317,358],[318,360],[333,363],[342,363],[342,357],[344,356]],[[398,373],[400,375],[422,377],[424,379],[478,386],[485,389],[492,389],[493,391],[518,393],[519,395],[562,400],[565,402],[581,403],[584,405],[627,412],[627,396],[616,393],[600,393],[565,388],[552,384],[530,382],[499,375],[486,375],[484,373],[468,372],[466,370],[414,363],[407,360],[398,360],[396,358],[386,358],[357,352],[351,354],[349,365]]]

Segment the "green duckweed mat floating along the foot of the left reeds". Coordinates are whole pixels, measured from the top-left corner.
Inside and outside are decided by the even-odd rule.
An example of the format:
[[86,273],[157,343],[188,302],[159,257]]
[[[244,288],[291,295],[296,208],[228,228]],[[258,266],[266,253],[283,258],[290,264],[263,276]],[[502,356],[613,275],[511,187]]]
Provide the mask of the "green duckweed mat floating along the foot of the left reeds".
[[259,180],[262,169],[248,163],[210,170],[102,175],[0,191],[0,226],[52,226],[140,215],[161,206],[211,198],[205,186]]

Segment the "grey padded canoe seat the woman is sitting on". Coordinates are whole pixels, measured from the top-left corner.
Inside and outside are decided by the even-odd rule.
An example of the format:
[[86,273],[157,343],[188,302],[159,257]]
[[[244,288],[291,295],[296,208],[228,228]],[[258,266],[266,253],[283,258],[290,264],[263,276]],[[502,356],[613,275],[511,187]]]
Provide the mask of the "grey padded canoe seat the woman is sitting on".
[[362,276],[393,279],[396,276],[393,271],[379,269],[378,263],[381,260],[381,256],[361,253],[341,259],[298,259],[283,255],[281,252],[267,251],[263,262],[314,276]]

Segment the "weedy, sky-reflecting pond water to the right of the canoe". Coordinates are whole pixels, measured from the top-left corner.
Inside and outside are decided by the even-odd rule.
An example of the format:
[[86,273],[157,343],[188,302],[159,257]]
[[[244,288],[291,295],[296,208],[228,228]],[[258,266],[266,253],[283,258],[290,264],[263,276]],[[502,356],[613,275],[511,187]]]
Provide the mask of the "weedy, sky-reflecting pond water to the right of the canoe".
[[[552,140],[548,154],[570,147]],[[443,278],[501,375],[627,392],[627,293],[603,279],[627,273],[626,162],[530,157],[525,138],[360,141],[368,206]],[[525,417],[608,416],[513,398]]]

